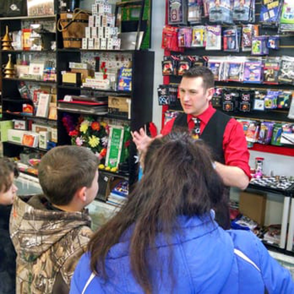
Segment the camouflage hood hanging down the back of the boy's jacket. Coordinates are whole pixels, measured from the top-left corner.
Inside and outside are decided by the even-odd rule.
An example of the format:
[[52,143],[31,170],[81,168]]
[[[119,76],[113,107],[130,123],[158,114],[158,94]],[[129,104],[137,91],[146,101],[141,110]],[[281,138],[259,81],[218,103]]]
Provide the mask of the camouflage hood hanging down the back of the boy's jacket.
[[90,226],[88,212],[51,211],[42,195],[16,197],[10,216],[15,250],[28,262],[36,260],[56,242],[82,225]]

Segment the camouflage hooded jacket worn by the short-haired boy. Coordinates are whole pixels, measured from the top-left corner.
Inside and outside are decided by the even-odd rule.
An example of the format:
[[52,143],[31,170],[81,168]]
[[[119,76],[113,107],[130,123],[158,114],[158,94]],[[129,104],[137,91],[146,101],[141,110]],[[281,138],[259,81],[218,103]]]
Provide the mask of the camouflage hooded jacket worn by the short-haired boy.
[[16,197],[10,234],[17,294],[69,293],[71,277],[91,237],[85,212],[51,211],[43,196]]

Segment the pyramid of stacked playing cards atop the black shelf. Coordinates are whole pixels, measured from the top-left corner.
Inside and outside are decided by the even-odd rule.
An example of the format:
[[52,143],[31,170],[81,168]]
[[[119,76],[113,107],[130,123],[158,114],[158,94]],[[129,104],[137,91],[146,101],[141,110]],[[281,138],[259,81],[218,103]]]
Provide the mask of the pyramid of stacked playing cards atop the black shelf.
[[111,5],[107,0],[96,0],[92,4],[92,15],[89,26],[85,28],[82,49],[119,50],[121,39],[118,38],[118,27],[115,16],[111,13]]

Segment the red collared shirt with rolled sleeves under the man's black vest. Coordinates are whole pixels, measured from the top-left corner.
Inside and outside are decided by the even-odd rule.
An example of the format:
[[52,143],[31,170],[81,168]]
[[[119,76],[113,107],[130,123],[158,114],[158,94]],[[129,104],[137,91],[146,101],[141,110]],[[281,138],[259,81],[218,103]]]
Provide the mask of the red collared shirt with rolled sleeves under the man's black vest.
[[[216,109],[209,105],[203,113],[197,116],[197,118],[200,119],[201,134],[215,112]],[[193,116],[191,114],[187,115],[189,131],[194,128],[194,121],[192,118]],[[161,134],[163,136],[171,132],[174,121],[175,118],[165,124],[161,130]],[[243,127],[234,118],[231,118],[225,127],[225,132],[223,134],[223,151],[225,165],[237,166],[241,168],[250,179],[250,167],[248,165],[250,154],[247,148],[247,142],[243,132]]]

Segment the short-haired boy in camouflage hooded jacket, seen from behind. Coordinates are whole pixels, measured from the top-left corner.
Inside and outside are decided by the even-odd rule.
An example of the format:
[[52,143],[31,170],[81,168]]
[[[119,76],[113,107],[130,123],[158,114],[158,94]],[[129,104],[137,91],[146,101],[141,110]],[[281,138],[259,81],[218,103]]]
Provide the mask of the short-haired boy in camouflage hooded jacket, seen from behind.
[[98,159],[85,147],[55,147],[41,159],[44,195],[16,198],[10,217],[16,293],[69,293],[92,234],[84,208],[98,192],[97,167]]

